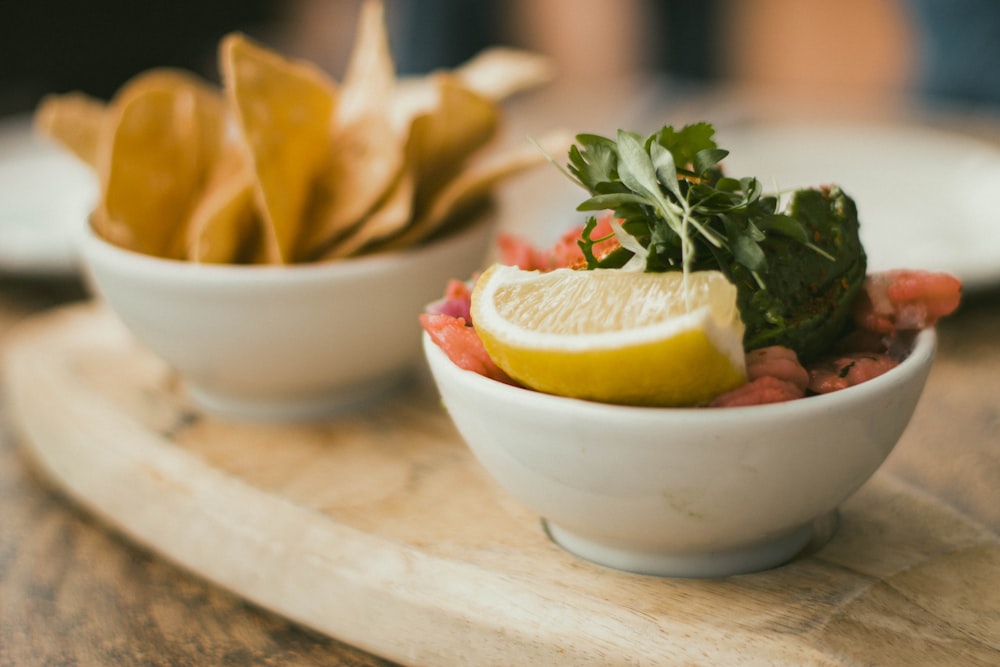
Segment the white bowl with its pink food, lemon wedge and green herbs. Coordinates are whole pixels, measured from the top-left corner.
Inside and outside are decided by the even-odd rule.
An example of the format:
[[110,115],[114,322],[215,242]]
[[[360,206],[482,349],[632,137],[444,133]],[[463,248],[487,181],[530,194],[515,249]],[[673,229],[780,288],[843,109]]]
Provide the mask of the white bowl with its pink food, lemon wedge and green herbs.
[[713,130],[580,135],[609,208],[448,283],[421,315],[443,402],[484,468],[585,559],[726,576],[792,558],[917,405],[952,276],[867,275],[853,201],[787,207],[723,175]]

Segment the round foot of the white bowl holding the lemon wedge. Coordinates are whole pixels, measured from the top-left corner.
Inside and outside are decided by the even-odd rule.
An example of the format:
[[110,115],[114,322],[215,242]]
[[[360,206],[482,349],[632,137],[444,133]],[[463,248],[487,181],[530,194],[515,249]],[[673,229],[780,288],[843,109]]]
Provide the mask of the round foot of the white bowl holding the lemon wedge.
[[543,525],[553,542],[575,556],[615,570],[658,577],[710,578],[759,572],[788,562],[819,537],[814,536],[814,525],[808,523],[776,538],[726,551],[663,553],[609,546],[549,521]]

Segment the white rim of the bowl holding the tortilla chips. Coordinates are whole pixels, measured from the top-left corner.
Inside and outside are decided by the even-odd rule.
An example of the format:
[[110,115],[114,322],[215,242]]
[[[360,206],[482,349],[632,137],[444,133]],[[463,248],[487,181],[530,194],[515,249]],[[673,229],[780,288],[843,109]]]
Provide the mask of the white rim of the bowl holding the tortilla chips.
[[461,246],[478,238],[481,234],[492,233],[495,226],[495,208],[487,207],[472,213],[470,222],[459,229],[442,236],[433,237],[412,247],[398,250],[375,252],[356,257],[318,262],[297,262],[291,264],[224,264],[202,263],[184,259],[172,259],[148,255],[116,245],[94,230],[89,222],[83,225],[80,239],[80,255],[86,265],[94,258],[107,260],[137,273],[149,275],[170,275],[174,279],[186,277],[192,280],[247,281],[274,280],[281,277],[288,280],[313,280],[329,278],[338,274],[374,275],[387,269],[409,264],[426,255],[447,255],[453,247]]

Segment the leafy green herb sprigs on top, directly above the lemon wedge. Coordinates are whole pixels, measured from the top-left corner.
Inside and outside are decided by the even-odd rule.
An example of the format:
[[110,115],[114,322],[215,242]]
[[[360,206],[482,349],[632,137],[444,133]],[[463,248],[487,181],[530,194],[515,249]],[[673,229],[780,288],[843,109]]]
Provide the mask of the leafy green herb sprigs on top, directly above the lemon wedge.
[[646,271],[745,267],[765,287],[767,257],[761,243],[771,234],[794,239],[832,260],[810,242],[806,228],[778,210],[754,177],[731,178],[720,163],[715,129],[696,123],[675,130],[665,125],[641,137],[619,130],[616,139],[580,134],[569,151],[571,180],[590,193],[577,210],[612,210],[621,221],[621,247],[598,257],[592,238],[597,220],[587,220],[580,246],[587,268],[621,268],[641,262]]

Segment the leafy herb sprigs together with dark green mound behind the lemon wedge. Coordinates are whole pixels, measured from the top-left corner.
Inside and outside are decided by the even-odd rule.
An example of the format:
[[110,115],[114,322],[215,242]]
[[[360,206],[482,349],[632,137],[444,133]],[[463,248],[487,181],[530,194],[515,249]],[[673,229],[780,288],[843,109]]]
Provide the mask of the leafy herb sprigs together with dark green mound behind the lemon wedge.
[[[808,360],[842,334],[866,257],[854,202],[839,188],[790,193],[779,208],[754,177],[727,176],[729,154],[709,123],[641,137],[580,134],[564,173],[590,193],[577,210],[611,210],[621,247],[594,253],[597,220],[580,247],[588,269],[719,270],[739,291],[746,349],[785,345]],[[567,171],[568,170],[568,171]]]

